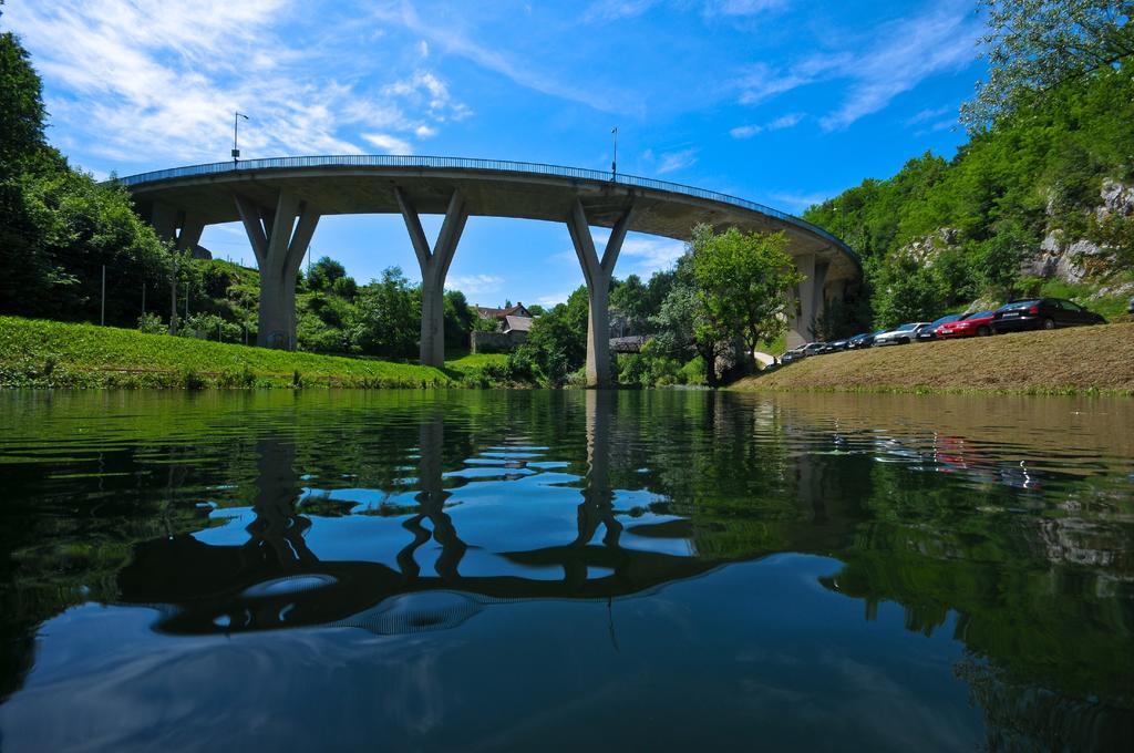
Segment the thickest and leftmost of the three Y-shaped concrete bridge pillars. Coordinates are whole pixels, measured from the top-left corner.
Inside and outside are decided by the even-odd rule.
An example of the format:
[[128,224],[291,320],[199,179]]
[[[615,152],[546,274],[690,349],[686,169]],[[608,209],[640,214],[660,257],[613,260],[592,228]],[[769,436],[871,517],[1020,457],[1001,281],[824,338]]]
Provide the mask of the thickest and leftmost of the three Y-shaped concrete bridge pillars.
[[237,195],[236,209],[260,268],[260,329],[256,345],[295,350],[295,278],[319,213],[281,191],[273,209]]

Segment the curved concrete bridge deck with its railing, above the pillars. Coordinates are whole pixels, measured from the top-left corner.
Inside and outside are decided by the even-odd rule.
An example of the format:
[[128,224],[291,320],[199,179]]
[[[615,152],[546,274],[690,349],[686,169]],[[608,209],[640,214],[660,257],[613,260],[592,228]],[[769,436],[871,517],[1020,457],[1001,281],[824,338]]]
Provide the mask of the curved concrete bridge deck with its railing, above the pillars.
[[205,225],[239,220],[234,194],[271,206],[281,189],[320,214],[397,213],[398,186],[422,213],[441,214],[459,188],[472,215],[560,222],[578,197],[591,225],[612,227],[633,196],[632,231],[687,239],[705,222],[742,230],[784,230],[793,254],[831,262],[830,277],[853,278],[857,256],[822,228],[769,206],[675,183],[502,160],[337,155],[215,162],[120,178],[139,205],[192,211]]

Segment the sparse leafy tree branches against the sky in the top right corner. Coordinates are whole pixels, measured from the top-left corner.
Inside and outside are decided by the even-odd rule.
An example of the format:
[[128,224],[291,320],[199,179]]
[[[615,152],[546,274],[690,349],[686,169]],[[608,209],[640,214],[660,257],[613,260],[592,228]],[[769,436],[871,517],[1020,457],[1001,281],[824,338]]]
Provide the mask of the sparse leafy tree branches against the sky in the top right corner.
[[1073,78],[1134,56],[1129,0],[980,0],[987,82],[960,108],[972,130],[1026,107]]

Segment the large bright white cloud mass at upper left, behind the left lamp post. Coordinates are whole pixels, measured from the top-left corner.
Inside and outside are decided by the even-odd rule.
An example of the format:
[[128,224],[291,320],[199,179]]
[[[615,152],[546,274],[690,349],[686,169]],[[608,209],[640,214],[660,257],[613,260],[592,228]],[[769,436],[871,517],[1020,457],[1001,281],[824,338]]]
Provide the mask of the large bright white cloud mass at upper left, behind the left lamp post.
[[73,0],[10,6],[5,20],[48,84],[52,120],[87,155],[120,162],[227,159],[234,110],[251,116],[245,159],[358,153],[355,129],[432,135],[467,116],[429,71],[421,91],[388,94],[348,71],[369,50],[277,33],[296,12],[285,0]]

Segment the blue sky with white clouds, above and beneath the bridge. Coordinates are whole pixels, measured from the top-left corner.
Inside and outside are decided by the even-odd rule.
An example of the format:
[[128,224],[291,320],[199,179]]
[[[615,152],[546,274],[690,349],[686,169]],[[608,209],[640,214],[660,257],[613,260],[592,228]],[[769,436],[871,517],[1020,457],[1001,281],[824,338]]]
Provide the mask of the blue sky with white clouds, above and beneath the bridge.
[[[974,0],[8,0],[49,139],[104,177],[228,159],[442,154],[609,170],[788,212],[964,141],[983,73]],[[438,218],[426,218],[435,234]],[[601,239],[602,234],[596,232]],[[237,225],[206,229],[253,262]],[[399,217],[323,218],[314,255],[418,279]],[[566,227],[472,218],[449,273],[471,301],[582,284]],[[616,274],[680,244],[631,236]]]

